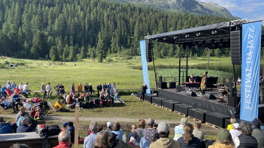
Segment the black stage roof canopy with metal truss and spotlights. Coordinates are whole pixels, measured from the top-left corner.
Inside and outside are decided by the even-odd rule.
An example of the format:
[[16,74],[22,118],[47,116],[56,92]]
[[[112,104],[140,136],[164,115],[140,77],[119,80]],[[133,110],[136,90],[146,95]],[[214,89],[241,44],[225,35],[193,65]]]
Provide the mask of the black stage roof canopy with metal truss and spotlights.
[[[248,20],[248,19],[243,19]],[[200,26],[184,30],[177,30],[166,32],[162,34],[155,34],[146,36],[145,39],[152,39],[157,42],[166,42],[170,44],[178,44],[183,47],[201,46],[214,48],[228,48],[230,47],[230,32],[241,29],[242,24],[250,23],[241,20],[231,22],[222,22],[212,25]],[[257,21],[258,22],[258,21]],[[261,46],[264,46],[264,31],[261,35]]]

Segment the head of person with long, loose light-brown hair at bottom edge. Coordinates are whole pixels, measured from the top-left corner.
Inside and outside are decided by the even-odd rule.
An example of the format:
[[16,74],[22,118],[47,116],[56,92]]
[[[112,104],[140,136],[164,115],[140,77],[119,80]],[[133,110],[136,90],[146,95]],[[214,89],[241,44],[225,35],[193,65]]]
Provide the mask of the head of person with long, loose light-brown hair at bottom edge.
[[100,133],[97,134],[95,139],[94,148],[109,148],[109,132],[106,130],[102,130]]

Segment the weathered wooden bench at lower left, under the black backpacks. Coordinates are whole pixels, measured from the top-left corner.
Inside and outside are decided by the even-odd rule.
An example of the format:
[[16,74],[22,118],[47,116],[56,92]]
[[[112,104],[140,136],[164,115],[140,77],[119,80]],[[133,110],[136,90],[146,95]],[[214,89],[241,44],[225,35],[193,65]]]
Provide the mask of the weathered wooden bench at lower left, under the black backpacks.
[[[50,147],[55,147],[59,144],[58,135],[49,136]],[[13,144],[26,144],[31,148],[42,147],[42,138],[35,132],[29,133],[13,133],[13,134],[0,134],[1,148],[9,148]]]

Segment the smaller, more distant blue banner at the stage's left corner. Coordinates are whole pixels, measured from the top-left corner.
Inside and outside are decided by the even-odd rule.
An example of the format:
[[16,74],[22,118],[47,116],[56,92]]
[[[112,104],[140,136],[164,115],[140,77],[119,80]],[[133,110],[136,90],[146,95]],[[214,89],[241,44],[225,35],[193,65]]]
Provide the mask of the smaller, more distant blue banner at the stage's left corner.
[[148,65],[146,61],[146,41],[142,40],[139,42],[139,44],[140,44],[141,63],[142,63],[142,72],[143,72],[143,83],[147,84],[148,89],[146,93],[150,94]]

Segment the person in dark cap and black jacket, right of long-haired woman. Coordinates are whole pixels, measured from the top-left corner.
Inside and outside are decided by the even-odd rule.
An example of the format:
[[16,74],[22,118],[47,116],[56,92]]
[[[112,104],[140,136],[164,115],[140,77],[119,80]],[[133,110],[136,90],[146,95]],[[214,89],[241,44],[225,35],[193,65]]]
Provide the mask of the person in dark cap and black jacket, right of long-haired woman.
[[109,133],[109,143],[112,148],[135,148],[130,143],[125,143],[117,138],[118,134]]

